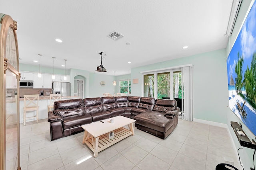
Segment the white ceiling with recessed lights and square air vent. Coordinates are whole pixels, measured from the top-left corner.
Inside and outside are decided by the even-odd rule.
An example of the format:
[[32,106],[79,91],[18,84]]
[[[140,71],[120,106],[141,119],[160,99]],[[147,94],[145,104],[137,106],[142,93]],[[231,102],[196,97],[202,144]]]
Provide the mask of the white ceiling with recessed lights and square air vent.
[[[226,48],[232,0],[1,0],[18,22],[20,63],[108,75]],[[124,35],[114,41],[112,31]],[[55,39],[61,39],[58,43]],[[131,43],[126,45],[126,43]],[[187,49],[182,49],[188,46]],[[128,61],[131,63],[128,64]],[[115,73],[114,73],[115,72]]]

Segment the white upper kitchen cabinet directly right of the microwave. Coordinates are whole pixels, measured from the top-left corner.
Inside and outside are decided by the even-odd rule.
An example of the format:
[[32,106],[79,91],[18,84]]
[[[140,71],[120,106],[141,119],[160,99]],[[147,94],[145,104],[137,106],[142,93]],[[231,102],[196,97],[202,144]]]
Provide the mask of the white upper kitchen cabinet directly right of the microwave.
[[39,78],[38,74],[34,74],[34,88],[52,88],[52,75],[42,74],[42,77]]

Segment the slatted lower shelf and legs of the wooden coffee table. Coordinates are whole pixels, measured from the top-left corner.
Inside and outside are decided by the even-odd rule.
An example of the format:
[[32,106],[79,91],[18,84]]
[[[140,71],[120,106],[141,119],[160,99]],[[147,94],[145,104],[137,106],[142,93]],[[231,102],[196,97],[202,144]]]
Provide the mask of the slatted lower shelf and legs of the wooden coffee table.
[[111,139],[108,139],[108,134],[104,134],[96,138],[92,137],[90,134],[84,135],[87,136],[87,139],[84,139],[83,143],[85,143],[94,152],[94,157],[97,157],[98,152],[114,145],[115,143],[118,143],[130,135],[133,135],[133,133],[124,127],[120,127],[114,130],[114,137]]

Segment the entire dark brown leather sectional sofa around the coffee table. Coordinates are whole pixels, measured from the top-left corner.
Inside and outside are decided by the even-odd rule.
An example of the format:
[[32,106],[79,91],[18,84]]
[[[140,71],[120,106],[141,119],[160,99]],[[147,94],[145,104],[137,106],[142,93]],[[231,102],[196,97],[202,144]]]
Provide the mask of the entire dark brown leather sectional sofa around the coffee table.
[[165,139],[178,124],[176,100],[118,96],[59,100],[48,113],[51,141],[84,131],[81,125],[122,115],[138,129]]

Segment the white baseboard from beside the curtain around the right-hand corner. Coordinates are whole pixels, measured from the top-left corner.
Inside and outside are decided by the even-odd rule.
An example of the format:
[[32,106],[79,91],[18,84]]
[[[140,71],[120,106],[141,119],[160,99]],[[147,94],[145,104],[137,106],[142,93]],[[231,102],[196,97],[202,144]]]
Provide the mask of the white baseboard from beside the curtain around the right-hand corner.
[[[229,131],[229,128],[228,128],[228,125],[225,124],[225,123],[218,123],[218,122],[214,122],[214,121],[207,121],[207,120],[202,120],[202,119],[193,119],[194,122],[198,122],[198,123],[204,123],[204,124],[207,124],[207,125],[212,125],[212,126],[218,126],[218,127],[224,127],[228,130],[228,135],[231,139],[231,143],[232,143],[232,147],[234,149],[234,152],[237,153],[237,149],[236,149],[236,145],[235,145],[235,142],[234,142],[234,139],[232,138],[232,135],[231,135],[231,132]],[[234,133],[232,131],[232,133]],[[238,157],[238,154],[236,154],[236,161],[238,162],[239,164],[239,157]]]

